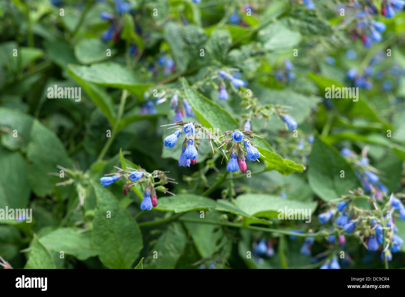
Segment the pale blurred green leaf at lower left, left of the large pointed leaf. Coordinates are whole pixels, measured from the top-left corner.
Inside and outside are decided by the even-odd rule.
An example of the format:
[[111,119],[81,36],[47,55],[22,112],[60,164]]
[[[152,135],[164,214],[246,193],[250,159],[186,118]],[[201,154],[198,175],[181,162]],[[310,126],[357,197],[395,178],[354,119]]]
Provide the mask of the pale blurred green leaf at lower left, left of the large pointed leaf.
[[85,260],[97,255],[90,232],[81,232],[75,227],[58,228],[51,233],[40,237],[40,241],[49,251],[75,256],[79,260]]

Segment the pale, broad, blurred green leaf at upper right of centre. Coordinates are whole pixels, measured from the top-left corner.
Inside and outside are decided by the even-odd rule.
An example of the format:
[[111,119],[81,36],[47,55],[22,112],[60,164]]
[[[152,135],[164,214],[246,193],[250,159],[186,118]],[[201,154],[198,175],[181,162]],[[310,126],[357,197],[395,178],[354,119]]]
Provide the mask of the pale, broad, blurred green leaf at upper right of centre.
[[301,41],[301,34],[276,22],[260,30],[258,39],[267,51],[286,51]]

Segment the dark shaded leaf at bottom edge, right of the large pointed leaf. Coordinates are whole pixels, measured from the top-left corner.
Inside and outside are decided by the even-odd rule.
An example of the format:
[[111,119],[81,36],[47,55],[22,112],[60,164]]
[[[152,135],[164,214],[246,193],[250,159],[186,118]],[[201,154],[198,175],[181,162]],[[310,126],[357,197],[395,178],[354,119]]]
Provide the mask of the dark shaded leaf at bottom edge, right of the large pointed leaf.
[[[158,238],[147,259],[148,269],[173,269],[180,257],[187,234],[180,223],[173,223]],[[154,253],[154,252],[157,252]],[[155,257],[157,255],[157,257]]]

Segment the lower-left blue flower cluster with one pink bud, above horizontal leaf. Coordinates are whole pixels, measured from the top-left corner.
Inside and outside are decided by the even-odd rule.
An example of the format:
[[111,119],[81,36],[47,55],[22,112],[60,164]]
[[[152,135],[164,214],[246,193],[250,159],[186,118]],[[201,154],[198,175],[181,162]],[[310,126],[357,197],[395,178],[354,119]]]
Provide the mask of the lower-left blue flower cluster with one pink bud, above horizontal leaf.
[[[107,187],[118,180],[124,180],[123,193],[126,196],[128,192],[132,190],[132,186],[138,183],[144,183],[145,189],[143,193],[143,200],[141,202],[141,209],[150,211],[153,207],[158,205],[158,197],[156,196],[156,191],[168,193],[166,187],[167,183],[175,183],[174,179],[167,177],[166,173],[168,171],[153,171],[153,173],[148,173],[141,167],[138,169],[127,168],[121,169],[119,167],[115,168],[118,170],[116,173],[106,174],[104,177],[100,178],[100,182],[103,187]],[[158,182],[155,182],[154,179],[160,179]]]

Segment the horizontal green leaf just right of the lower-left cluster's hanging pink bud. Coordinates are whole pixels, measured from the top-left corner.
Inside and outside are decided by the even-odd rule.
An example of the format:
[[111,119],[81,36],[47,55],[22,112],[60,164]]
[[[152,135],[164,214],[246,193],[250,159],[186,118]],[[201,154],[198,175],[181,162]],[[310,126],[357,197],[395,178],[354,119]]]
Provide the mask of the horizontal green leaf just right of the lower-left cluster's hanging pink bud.
[[158,199],[158,211],[174,211],[184,213],[187,211],[214,209],[216,202],[213,199],[194,194],[178,194],[176,196]]

